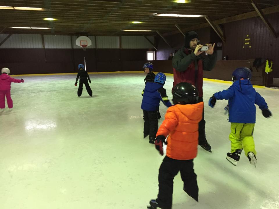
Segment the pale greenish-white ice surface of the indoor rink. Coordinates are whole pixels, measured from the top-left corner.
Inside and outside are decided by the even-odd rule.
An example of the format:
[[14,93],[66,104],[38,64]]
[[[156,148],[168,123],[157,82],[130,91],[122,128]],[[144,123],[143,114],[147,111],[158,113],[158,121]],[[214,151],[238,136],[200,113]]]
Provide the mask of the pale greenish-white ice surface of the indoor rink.
[[[140,209],[158,194],[163,157],[143,139],[140,109],[145,74],[90,74],[93,91],[81,98],[76,75],[23,76],[12,83],[14,108],[0,113],[1,209]],[[173,77],[164,86],[172,98]],[[173,209],[279,208],[279,90],[256,88],[273,117],[258,107],[254,139],[257,168],[242,153],[235,167],[225,100],[207,103],[230,84],[204,81],[206,136],[194,160],[199,202],[174,179]],[[160,103],[164,116],[167,107]],[[159,125],[163,118],[159,120]]]

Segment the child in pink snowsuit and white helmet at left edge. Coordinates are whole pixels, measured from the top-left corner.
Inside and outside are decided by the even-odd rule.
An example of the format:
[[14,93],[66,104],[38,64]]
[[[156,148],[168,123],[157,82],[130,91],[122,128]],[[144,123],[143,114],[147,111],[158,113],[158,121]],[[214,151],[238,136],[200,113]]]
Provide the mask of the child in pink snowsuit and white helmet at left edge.
[[15,83],[23,83],[24,80],[15,79],[10,77],[10,70],[8,68],[2,68],[0,75],[0,109],[5,108],[5,95],[7,98],[8,107],[11,109],[12,105],[12,98],[11,98],[11,82]]

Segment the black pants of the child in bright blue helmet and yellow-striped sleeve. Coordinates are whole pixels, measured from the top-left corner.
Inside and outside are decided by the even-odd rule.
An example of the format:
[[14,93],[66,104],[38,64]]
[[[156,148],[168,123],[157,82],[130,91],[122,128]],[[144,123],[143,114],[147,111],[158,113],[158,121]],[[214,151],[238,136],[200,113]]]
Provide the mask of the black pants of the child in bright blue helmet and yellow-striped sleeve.
[[143,111],[144,128],[143,133],[149,138],[155,138],[158,131],[158,116],[157,111]]

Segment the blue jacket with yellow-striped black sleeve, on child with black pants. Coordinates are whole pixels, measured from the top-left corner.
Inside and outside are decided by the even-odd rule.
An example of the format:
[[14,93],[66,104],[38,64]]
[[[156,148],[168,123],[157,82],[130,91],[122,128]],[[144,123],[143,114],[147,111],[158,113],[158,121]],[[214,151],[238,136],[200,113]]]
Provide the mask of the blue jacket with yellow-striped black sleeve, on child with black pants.
[[141,108],[146,111],[157,111],[160,100],[167,107],[171,107],[171,102],[167,96],[166,89],[162,84],[146,82],[145,89],[142,92],[142,106]]

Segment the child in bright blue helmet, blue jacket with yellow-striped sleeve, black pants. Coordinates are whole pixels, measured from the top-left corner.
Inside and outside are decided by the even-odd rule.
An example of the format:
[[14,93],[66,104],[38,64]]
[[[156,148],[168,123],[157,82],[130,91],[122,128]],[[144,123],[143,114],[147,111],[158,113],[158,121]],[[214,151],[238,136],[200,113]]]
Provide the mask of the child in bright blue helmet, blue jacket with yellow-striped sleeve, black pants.
[[143,138],[149,135],[149,143],[151,144],[154,144],[158,130],[157,109],[160,105],[160,100],[167,107],[172,106],[166,89],[163,88],[165,81],[166,75],[164,73],[157,73],[154,82],[146,82],[143,92],[141,105],[144,117]]

